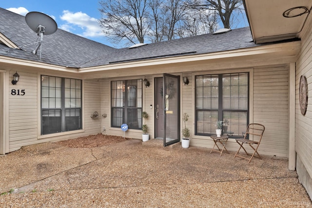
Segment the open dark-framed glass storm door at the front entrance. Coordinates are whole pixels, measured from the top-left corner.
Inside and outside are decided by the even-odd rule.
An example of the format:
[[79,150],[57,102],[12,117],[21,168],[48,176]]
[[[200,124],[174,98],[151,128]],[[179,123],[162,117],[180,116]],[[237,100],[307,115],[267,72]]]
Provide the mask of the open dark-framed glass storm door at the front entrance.
[[179,76],[163,75],[164,146],[180,141]]

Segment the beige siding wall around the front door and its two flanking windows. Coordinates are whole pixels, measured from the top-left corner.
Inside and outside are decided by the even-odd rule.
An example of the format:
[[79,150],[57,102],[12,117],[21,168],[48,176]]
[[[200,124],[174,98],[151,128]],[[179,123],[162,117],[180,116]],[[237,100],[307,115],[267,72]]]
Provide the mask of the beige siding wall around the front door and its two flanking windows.
[[[192,67],[190,67],[191,70]],[[204,65],[197,66],[205,68]],[[177,68],[170,70],[176,71]],[[232,69],[233,71],[233,69]],[[237,72],[237,70],[235,69]],[[276,155],[288,157],[288,126],[289,126],[289,64],[270,65],[255,68],[246,68],[238,70],[240,72],[250,71],[251,77],[251,110],[250,122],[261,123],[266,127],[263,140],[259,147],[259,153],[264,155]],[[220,71],[202,71],[200,74],[219,73]],[[180,73],[181,80],[183,76],[189,78],[190,83],[184,85],[181,81],[181,115],[188,113],[190,118],[186,123],[191,130],[191,146],[212,148],[214,143],[207,136],[195,135],[195,114],[194,114],[194,78],[199,72]],[[222,71],[225,73],[225,71]],[[154,106],[150,109],[150,105],[154,103],[154,80],[153,76],[146,77],[151,85],[143,89],[143,110],[149,114],[146,124],[149,126],[150,138],[154,138]],[[133,78],[133,77],[131,77]],[[112,135],[123,135],[120,128],[111,128],[110,121],[110,81],[112,79],[101,79],[101,114],[106,113],[107,117],[102,119],[101,126],[105,126],[105,133]],[[181,119],[181,127],[183,124]],[[101,127],[102,128],[102,127]],[[182,127],[183,128],[183,127]],[[128,130],[125,132],[126,137],[141,139],[142,132],[140,130]],[[181,135],[182,136],[182,135]],[[234,139],[230,139],[227,148],[230,151],[237,150],[237,143]],[[248,148],[247,148],[248,149]],[[250,150],[252,151],[252,150]]]

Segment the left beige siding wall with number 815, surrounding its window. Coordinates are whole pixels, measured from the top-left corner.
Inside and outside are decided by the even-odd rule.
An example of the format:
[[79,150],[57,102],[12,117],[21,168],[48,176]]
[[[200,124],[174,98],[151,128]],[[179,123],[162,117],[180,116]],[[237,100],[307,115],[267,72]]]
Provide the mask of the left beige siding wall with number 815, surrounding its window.
[[[13,74],[18,71],[20,75],[20,81],[17,85],[12,85],[11,80]],[[101,132],[100,118],[93,119],[90,116],[95,111],[100,112],[100,82],[97,79],[86,80],[83,83],[83,109],[84,120],[83,130],[74,132],[62,132],[51,135],[40,135],[40,106],[39,106],[39,77],[42,72],[37,70],[23,70],[20,68],[8,71],[7,78],[9,92],[4,99],[4,102],[8,103],[8,138],[6,140],[5,153],[16,151],[22,146],[38,144],[48,141],[59,141],[69,138],[77,138],[79,136],[85,136],[89,134],[96,134]],[[66,73],[49,74],[50,76],[71,77],[80,78],[78,76],[72,76]],[[20,90],[20,95],[12,95],[12,90]],[[25,95],[21,95],[21,90],[24,90]],[[6,130],[4,130],[6,131]]]

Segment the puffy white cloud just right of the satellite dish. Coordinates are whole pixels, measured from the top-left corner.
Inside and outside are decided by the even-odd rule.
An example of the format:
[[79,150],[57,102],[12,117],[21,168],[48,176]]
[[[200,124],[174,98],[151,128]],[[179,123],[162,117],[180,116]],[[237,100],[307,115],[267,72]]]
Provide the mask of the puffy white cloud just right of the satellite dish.
[[82,34],[78,34],[82,37],[103,37],[101,27],[98,25],[98,19],[91,18],[85,13],[76,12],[72,13],[68,10],[63,11],[63,15],[60,16],[60,19],[66,21],[65,24],[60,25],[59,28],[62,30],[71,32],[75,30],[75,26],[78,26],[82,29]]

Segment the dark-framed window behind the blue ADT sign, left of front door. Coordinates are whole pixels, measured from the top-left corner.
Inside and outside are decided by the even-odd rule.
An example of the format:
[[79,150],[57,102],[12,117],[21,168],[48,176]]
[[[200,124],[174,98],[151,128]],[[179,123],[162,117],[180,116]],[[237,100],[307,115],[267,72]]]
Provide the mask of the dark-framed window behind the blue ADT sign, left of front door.
[[141,129],[142,79],[112,81],[111,85],[111,126],[126,123],[129,129]]

